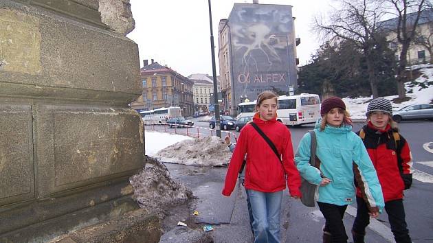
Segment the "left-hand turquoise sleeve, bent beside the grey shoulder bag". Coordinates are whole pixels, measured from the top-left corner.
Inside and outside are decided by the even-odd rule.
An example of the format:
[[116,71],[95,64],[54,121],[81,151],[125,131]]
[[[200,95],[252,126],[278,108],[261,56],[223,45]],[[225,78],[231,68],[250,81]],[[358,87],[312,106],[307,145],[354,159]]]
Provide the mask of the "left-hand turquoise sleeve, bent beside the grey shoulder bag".
[[307,132],[299,143],[298,151],[295,156],[295,163],[302,178],[309,181],[311,184],[319,185],[322,182],[322,177],[320,177],[320,170],[310,165],[310,146],[311,137]]

